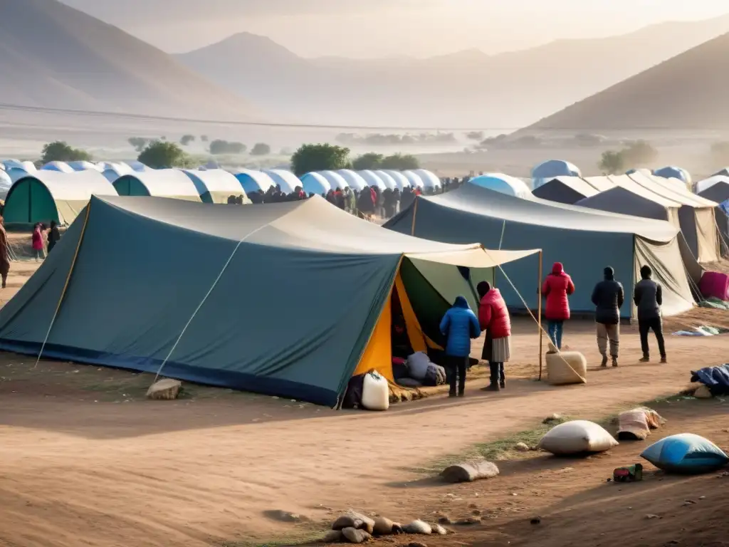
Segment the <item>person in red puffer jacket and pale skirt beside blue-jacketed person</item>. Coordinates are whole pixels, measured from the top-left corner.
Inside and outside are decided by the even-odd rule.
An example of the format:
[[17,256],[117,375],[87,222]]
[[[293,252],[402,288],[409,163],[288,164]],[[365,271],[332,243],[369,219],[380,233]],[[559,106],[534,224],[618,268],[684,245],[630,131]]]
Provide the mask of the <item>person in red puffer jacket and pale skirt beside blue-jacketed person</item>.
[[483,344],[481,359],[488,361],[491,369],[491,384],[486,387],[489,391],[499,391],[506,387],[504,362],[510,357],[511,319],[506,302],[501,292],[488,282],[480,282],[476,290],[480,297],[478,305],[478,322],[481,330],[486,330],[486,341]]

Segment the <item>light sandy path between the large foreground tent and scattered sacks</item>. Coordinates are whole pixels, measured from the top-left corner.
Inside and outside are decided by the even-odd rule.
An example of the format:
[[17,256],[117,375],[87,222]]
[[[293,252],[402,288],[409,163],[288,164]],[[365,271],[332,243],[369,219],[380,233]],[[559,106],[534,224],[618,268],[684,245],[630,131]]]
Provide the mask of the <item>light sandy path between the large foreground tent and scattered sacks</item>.
[[[516,330],[515,360],[535,362],[533,329]],[[592,325],[573,322],[566,341],[596,362]],[[3,389],[0,544],[208,546],[280,538],[267,510],[312,519],[329,516],[318,505],[402,512],[418,496],[402,488],[418,478],[410,469],[553,412],[599,417],[677,392],[690,369],[725,360],[728,339],[670,337],[670,364],[638,365],[636,329],[625,327],[621,349],[623,367],[591,370],[586,386],[520,380],[486,394],[479,384],[464,400],[432,397],[382,414],[262,396],[124,404],[31,384]],[[1,355],[0,369],[12,359]]]

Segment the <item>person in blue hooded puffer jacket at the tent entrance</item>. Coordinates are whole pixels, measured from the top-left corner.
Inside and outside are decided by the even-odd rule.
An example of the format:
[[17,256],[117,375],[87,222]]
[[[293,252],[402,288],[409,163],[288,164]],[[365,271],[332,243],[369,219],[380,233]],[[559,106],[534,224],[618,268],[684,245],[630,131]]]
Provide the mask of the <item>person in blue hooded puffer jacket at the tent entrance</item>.
[[471,354],[471,338],[478,338],[481,327],[463,296],[456,298],[453,307],[440,321],[440,332],[445,335],[446,364],[451,376],[451,397],[463,397],[466,389],[466,367]]

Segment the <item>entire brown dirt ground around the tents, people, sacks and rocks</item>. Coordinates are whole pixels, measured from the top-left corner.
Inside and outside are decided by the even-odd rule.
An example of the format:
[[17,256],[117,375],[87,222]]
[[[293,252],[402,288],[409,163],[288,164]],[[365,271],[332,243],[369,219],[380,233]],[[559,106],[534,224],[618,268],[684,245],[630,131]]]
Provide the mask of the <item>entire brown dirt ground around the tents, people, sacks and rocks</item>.
[[[35,267],[15,263],[2,299]],[[667,327],[725,314],[703,312]],[[645,443],[586,460],[499,462],[500,478],[467,486],[418,472],[554,412],[601,419],[675,394],[691,370],[725,362],[729,348],[724,335],[668,336],[668,365],[640,365],[636,327],[625,326],[620,368],[601,370],[590,322],[567,324],[565,342],[588,357],[588,384],[534,381],[539,338],[518,319],[507,390],[480,391],[485,380],[475,379],[463,400],[435,395],[383,414],[195,386],[180,400],[151,402],[147,375],[0,354],[0,546],[302,543],[350,507],[407,521],[434,511],[459,518],[475,511],[471,503],[484,524],[426,538],[429,546],[725,545],[729,478],[605,483],[612,468],[638,462]],[[691,431],[727,448],[728,408],[720,400],[660,403],[669,421],[654,438]],[[688,498],[696,503],[684,506]],[[281,524],[265,516],[270,510],[309,520]],[[535,514],[542,524],[529,524]]]

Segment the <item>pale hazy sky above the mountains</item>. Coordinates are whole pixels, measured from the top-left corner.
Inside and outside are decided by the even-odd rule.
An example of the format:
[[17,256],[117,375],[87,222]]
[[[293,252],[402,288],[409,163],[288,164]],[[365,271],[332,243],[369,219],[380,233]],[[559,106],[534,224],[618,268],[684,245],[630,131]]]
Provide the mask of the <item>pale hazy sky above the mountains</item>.
[[498,53],[723,15],[721,0],[62,0],[171,53],[249,31],[306,57]]

